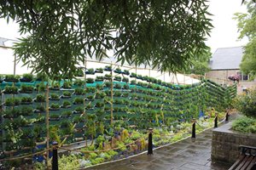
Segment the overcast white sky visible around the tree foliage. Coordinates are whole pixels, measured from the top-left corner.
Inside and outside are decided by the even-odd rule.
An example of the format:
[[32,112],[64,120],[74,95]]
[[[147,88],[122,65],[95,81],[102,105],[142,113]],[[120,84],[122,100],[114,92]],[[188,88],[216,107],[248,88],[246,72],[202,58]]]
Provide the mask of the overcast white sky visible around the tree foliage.
[[[212,53],[217,48],[237,47],[247,43],[247,39],[237,41],[239,33],[236,27],[236,20],[233,20],[237,12],[246,13],[246,7],[241,5],[241,0],[210,0],[209,12],[211,16],[212,29],[211,37],[208,37],[207,45],[212,49]],[[10,21],[7,25],[6,20],[0,19],[0,37],[17,39],[20,37],[19,26]],[[9,44],[6,44],[9,45]],[[0,74],[13,73],[13,54],[10,50],[0,48]],[[18,68],[19,67],[19,68]],[[17,66],[17,72],[22,74],[26,68]]]

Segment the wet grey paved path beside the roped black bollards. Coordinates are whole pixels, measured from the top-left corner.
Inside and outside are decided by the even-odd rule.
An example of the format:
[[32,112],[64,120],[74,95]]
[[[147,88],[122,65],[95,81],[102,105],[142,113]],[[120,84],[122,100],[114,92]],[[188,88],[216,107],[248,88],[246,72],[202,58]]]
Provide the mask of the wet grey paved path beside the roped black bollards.
[[226,170],[229,167],[211,161],[212,129],[176,144],[154,150],[154,155],[139,155],[87,170]]

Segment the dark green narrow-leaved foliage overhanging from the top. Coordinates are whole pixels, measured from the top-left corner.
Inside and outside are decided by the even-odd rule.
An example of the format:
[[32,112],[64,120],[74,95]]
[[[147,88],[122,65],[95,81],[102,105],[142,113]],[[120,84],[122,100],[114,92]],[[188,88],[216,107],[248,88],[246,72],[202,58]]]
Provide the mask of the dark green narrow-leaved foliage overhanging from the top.
[[4,0],[0,18],[20,24],[15,54],[33,71],[73,77],[84,56],[113,49],[124,63],[180,71],[206,48],[204,0]]

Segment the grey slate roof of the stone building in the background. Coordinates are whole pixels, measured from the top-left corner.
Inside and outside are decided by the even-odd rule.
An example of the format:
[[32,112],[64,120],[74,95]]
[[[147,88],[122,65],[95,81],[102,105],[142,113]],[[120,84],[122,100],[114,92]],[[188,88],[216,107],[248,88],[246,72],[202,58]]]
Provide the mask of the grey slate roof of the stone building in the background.
[[240,69],[243,47],[217,48],[210,59],[211,70]]

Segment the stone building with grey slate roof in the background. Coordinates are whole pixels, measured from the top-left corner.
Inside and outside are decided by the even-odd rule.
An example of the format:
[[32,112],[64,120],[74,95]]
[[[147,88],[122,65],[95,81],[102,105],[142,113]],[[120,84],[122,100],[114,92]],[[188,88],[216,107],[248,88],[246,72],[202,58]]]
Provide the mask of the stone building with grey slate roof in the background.
[[218,48],[210,59],[211,71],[207,72],[206,77],[219,84],[233,83],[228,79],[230,76],[239,75],[238,93],[245,88],[256,86],[256,82],[249,81],[249,76],[240,70],[243,47]]

